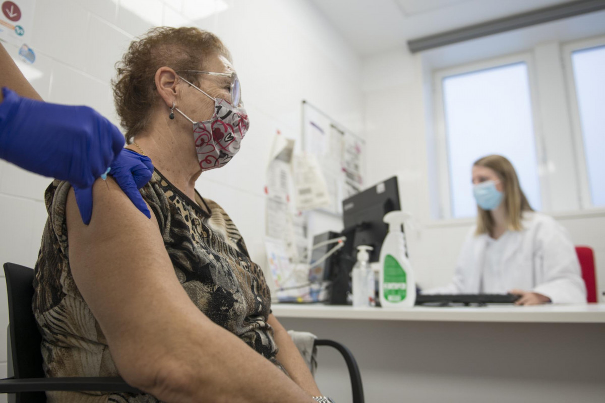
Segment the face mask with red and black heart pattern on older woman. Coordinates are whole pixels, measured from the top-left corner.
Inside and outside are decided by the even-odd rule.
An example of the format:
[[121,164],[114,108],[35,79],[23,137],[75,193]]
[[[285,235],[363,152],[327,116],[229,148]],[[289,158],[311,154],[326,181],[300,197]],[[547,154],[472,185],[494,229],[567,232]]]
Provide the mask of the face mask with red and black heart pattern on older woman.
[[214,98],[183,77],[180,79],[214,100],[214,115],[209,120],[194,121],[178,108],[174,109],[193,124],[195,151],[201,170],[220,168],[240,150],[241,140],[250,127],[246,109],[240,105],[231,105],[224,99]]

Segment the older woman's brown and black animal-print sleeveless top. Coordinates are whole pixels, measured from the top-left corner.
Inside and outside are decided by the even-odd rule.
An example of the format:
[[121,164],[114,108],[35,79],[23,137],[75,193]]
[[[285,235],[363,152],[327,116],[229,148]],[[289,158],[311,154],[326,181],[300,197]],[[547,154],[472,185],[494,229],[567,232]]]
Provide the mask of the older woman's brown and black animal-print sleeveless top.
[[[65,220],[69,190],[70,184],[55,180],[45,192],[48,220],[32,303],[42,333],[44,370],[50,377],[119,376],[99,323],[71,276]],[[177,278],[194,304],[283,370],[267,323],[269,288],[227,213],[197,193],[198,203],[192,202],[157,170],[141,194],[157,218]],[[150,395],[129,393],[47,392],[47,396],[51,403],[159,402]]]

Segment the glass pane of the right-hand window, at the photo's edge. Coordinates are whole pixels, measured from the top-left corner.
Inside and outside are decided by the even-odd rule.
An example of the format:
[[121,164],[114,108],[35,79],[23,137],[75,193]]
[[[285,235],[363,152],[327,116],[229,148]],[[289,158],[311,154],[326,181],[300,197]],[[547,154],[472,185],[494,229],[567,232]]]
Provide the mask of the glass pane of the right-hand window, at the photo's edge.
[[605,205],[605,46],[572,53],[584,156],[593,205]]

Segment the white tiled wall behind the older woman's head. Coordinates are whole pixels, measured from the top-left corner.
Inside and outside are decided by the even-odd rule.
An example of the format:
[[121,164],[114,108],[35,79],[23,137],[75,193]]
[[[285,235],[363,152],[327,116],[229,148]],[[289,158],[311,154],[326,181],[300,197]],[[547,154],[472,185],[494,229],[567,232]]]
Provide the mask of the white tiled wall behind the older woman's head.
[[[157,25],[191,25],[201,4],[220,0],[39,0],[34,15],[34,88],[50,102],[92,106],[117,122],[110,79],[114,63],[134,36]],[[201,195],[226,209],[252,257],[264,265],[264,172],[273,136],[299,140],[302,99],[323,108],[353,131],[362,129],[361,59],[313,5],[303,0],[230,0],[221,13],[195,25],[218,34],[231,50],[251,126],[228,166],[204,173]],[[60,24],[57,22],[60,21]],[[11,55],[17,48],[4,44]],[[33,267],[46,220],[50,179],[0,161],[0,256]],[[2,282],[4,283],[4,282]],[[0,286],[0,329],[8,323]],[[0,330],[0,376],[6,373]],[[4,396],[0,396],[0,399]],[[1,401],[1,400],[0,400]]]

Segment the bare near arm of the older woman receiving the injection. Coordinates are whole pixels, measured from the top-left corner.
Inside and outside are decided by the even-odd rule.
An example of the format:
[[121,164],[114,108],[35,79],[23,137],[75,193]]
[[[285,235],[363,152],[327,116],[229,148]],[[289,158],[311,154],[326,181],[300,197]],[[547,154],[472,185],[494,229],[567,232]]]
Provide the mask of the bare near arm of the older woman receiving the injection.
[[157,221],[140,213],[113,179],[107,182],[109,189],[102,180],[94,184],[88,226],[74,193],[68,196],[69,257],[74,281],[125,381],[166,402],[311,401],[192,303]]

